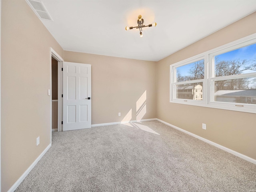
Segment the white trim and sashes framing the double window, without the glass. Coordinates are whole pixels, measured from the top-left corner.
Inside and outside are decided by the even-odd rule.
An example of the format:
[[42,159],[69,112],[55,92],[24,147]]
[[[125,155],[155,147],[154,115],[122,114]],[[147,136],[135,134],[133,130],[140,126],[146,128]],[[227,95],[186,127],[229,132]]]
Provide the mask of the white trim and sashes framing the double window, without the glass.
[[[178,103],[178,104],[187,104],[187,105],[194,105],[194,106],[202,106],[202,107],[209,107],[209,108],[218,108],[224,110],[233,110],[233,111],[240,111],[240,112],[249,112],[249,113],[256,113],[256,105],[255,104],[239,104],[239,103],[228,103],[228,102],[216,102],[213,101],[214,98],[214,90],[211,90],[210,83],[213,83],[214,80],[222,80],[228,78],[238,78],[238,77],[250,77],[255,76],[255,73],[250,74],[239,74],[239,75],[232,75],[232,76],[225,76],[225,77],[214,77],[214,65],[212,64],[212,56],[222,54],[225,50],[226,52],[240,48],[242,46],[247,46],[250,44],[256,43],[256,34],[252,34],[250,36],[241,38],[234,42],[219,46],[212,50],[206,51],[204,53],[198,54],[196,56],[187,58],[180,62],[174,63],[170,65],[170,102],[171,103]],[[176,68],[179,66],[183,66],[185,64],[189,64],[198,60],[204,59],[204,79],[200,80],[192,80],[186,82],[175,82],[176,81]],[[195,83],[195,82],[203,82],[203,100],[184,100],[184,99],[177,99],[174,97],[176,94],[176,89],[174,89],[174,85],[177,84],[187,84],[187,83]]]

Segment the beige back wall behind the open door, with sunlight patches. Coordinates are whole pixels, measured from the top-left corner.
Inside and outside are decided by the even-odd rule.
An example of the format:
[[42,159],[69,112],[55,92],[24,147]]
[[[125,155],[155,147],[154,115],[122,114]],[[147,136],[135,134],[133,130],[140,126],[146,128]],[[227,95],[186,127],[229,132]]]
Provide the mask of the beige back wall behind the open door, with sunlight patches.
[[156,118],[156,62],[69,51],[64,60],[92,65],[92,124]]

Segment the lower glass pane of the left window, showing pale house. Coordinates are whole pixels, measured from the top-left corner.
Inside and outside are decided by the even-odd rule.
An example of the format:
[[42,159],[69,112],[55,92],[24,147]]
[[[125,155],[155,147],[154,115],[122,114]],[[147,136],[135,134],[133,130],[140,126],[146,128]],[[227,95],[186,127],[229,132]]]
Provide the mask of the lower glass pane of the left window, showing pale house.
[[203,100],[203,83],[176,85],[177,99]]

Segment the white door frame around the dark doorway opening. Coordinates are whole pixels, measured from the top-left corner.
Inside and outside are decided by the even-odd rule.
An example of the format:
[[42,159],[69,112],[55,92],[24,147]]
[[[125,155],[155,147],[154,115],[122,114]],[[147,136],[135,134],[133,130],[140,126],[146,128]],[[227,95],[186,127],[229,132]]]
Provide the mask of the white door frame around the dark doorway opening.
[[[52,93],[52,57],[58,61],[58,131],[62,131],[62,126],[61,126],[61,121],[62,121],[62,97],[61,94],[63,92],[62,88],[62,73],[61,73],[61,68],[64,59],[62,59],[59,54],[54,51],[53,48],[50,48],[50,69],[51,69],[51,77],[50,77],[50,82],[51,82],[51,93]],[[51,143],[52,143],[52,97],[51,97],[51,125],[50,125],[50,138],[51,138]]]

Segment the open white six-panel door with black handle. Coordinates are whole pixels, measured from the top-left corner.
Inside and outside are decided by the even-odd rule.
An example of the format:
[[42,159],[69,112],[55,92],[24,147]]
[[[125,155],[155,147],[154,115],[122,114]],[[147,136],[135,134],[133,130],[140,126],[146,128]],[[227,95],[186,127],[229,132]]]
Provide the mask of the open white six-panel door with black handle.
[[63,62],[63,131],[91,128],[91,65]]

